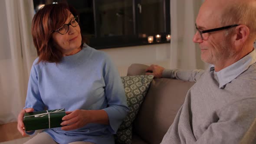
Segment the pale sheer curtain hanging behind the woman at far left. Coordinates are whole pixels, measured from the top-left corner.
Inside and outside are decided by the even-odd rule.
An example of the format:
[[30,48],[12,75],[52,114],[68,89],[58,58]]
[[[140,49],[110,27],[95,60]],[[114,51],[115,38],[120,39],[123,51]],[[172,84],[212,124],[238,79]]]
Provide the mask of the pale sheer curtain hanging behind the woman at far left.
[[31,36],[33,0],[0,0],[0,124],[16,121],[24,107],[36,50]]

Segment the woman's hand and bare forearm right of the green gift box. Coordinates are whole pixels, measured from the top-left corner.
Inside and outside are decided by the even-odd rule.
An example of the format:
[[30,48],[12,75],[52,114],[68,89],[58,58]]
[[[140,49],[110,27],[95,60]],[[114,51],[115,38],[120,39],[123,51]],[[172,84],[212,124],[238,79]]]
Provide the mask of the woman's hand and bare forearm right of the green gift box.
[[104,110],[75,110],[66,111],[66,116],[62,118],[64,131],[82,128],[89,123],[109,124],[108,114]]

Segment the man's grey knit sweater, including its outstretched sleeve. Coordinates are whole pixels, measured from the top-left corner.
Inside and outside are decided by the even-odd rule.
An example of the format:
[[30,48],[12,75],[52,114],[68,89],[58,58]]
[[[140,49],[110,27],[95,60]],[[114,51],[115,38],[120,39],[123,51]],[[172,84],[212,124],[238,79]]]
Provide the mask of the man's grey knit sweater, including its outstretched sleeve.
[[238,144],[256,118],[256,52],[229,67],[164,70],[164,77],[196,82],[161,144]]

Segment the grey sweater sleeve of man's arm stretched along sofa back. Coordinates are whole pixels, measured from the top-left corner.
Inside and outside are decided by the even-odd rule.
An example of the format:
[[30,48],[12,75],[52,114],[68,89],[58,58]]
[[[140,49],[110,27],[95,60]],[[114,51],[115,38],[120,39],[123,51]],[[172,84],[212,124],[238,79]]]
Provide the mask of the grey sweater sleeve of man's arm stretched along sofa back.
[[203,75],[204,70],[181,70],[181,69],[164,69],[162,76],[163,78],[180,79],[189,82],[197,82]]

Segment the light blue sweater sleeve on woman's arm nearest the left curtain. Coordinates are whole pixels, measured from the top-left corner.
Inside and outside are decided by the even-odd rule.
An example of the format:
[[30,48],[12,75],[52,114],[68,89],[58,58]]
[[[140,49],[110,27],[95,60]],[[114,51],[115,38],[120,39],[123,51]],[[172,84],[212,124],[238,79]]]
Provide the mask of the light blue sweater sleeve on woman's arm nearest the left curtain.
[[26,103],[25,108],[34,108],[35,111],[43,111],[44,110],[44,103],[41,99],[41,95],[39,92],[38,87],[38,70],[35,66],[36,61],[34,62],[31,72],[30,72],[30,79],[28,82],[28,89],[26,95]]

